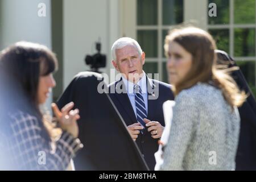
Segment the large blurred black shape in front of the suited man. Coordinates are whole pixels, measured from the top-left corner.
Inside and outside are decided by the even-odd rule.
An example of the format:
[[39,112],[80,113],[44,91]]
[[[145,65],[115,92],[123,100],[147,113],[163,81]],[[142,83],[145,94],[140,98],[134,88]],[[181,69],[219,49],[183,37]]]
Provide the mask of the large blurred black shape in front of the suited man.
[[[59,108],[73,101],[75,108],[80,110],[81,118],[77,122],[84,148],[74,159],[75,168],[147,170],[141,152],[131,139],[110,97],[97,91],[101,79],[98,73],[79,73],[57,101]],[[108,91],[107,85],[105,88]]]

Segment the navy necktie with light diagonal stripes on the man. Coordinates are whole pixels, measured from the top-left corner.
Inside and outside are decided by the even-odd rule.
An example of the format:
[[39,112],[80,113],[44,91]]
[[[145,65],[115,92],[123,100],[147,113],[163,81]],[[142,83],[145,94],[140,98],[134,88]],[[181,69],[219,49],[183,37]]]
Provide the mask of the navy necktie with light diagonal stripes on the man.
[[144,118],[147,118],[146,106],[143,100],[141,87],[139,85],[134,85],[135,93],[135,106],[137,112],[137,121],[141,123],[144,128],[146,128],[146,123],[143,121]]

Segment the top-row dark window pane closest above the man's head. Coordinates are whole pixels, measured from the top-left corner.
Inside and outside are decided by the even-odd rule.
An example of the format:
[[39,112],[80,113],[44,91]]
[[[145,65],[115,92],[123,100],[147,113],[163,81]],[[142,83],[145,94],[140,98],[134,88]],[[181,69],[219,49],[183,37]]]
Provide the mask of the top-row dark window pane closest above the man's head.
[[[130,10],[133,13],[133,10]],[[137,0],[137,24],[156,25],[158,24],[158,1]]]

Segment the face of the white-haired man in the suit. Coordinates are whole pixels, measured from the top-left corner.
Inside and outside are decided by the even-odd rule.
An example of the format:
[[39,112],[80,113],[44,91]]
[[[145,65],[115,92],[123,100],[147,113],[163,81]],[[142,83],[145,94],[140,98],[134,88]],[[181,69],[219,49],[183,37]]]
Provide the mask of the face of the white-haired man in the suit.
[[122,73],[127,80],[138,82],[143,73],[143,64],[145,63],[145,53],[139,52],[135,46],[128,45],[121,49],[115,50],[117,60],[113,60],[112,64],[115,69]]

